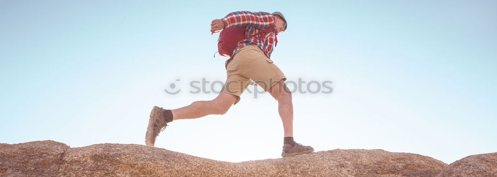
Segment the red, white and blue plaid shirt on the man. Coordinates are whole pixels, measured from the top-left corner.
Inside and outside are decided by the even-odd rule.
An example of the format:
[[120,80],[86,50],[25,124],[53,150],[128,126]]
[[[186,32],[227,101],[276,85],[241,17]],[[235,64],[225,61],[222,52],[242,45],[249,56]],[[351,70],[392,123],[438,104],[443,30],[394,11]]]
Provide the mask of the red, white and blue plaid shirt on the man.
[[[249,12],[249,11],[236,11],[226,15],[223,19],[225,28],[237,27],[247,25],[245,30],[245,37],[252,36],[258,32],[264,31],[267,27],[274,24],[276,17],[267,12]],[[276,39],[276,26],[274,30],[270,33],[265,34],[265,36],[254,36],[252,38],[246,39],[238,43],[238,46],[233,51],[233,54],[239,49],[250,44],[257,45],[262,52],[267,56],[271,57],[271,53],[276,47],[278,40]]]

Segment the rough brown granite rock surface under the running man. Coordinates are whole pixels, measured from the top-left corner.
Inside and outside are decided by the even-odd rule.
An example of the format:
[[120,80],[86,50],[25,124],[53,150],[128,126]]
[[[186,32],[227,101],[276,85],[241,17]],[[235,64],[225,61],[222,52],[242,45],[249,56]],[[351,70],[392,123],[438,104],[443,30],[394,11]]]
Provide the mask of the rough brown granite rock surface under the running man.
[[230,163],[137,144],[70,148],[55,141],[34,141],[0,144],[0,176],[446,177],[463,172],[495,176],[496,157],[497,153],[469,156],[448,166],[418,154],[336,149]]

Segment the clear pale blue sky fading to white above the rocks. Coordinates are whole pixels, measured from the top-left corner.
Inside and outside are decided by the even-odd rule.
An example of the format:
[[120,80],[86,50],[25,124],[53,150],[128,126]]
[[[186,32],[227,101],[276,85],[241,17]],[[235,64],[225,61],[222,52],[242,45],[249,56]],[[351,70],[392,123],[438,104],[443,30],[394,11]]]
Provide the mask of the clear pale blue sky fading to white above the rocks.
[[[288,20],[271,57],[295,93],[294,135],[317,151],[384,149],[452,163],[497,149],[495,0],[0,0],[0,143],[144,144],[154,105],[174,109],[224,81],[210,22],[237,10]],[[179,81],[175,81],[179,79]],[[168,95],[175,83],[182,91]],[[252,89],[250,87],[249,89]],[[260,90],[260,89],[259,89]],[[172,122],[156,146],[215,160],[279,158],[269,94],[224,116]]]

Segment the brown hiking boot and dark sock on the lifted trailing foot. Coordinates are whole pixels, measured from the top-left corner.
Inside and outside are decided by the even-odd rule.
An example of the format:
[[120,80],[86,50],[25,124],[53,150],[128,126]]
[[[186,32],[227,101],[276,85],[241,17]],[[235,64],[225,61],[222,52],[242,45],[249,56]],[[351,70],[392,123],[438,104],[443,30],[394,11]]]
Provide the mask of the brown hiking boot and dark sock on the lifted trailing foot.
[[167,116],[172,117],[172,113],[169,110],[154,106],[150,113],[149,126],[147,127],[147,133],[145,134],[145,144],[147,146],[154,147],[157,136],[159,136],[161,131],[166,129]]

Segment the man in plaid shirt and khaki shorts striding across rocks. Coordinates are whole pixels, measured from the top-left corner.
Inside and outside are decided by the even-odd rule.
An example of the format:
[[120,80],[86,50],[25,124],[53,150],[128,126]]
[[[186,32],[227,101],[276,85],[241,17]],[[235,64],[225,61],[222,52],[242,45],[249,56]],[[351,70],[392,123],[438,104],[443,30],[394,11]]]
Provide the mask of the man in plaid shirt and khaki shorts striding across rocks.
[[[245,37],[250,38],[240,41],[232,58],[227,61],[227,79],[221,93],[213,100],[196,101],[189,106],[175,110],[154,107],[145,135],[147,146],[153,147],[159,133],[164,131],[167,123],[173,120],[224,115],[232,105],[240,101],[240,95],[253,80],[278,102],[278,112],[284,129],[281,156],[291,157],[314,151],[311,146],[303,146],[293,140],[292,94],[285,85],[285,75],[269,59],[277,43],[276,35],[287,28],[285,17],[281,12],[272,14],[249,11],[232,12],[223,19],[213,20],[211,32],[214,34],[226,28],[239,26],[247,26]],[[262,33],[271,27],[273,29],[269,29],[269,32]]]

